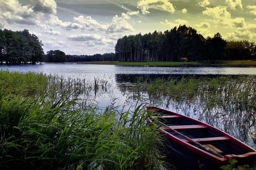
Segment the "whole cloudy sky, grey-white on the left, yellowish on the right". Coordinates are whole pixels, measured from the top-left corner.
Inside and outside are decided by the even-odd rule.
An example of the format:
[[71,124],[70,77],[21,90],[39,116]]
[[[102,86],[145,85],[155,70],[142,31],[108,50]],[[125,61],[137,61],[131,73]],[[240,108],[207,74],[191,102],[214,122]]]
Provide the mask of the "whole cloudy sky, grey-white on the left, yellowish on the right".
[[0,23],[36,34],[45,53],[114,52],[119,37],[180,24],[256,41],[256,0],[0,0]]

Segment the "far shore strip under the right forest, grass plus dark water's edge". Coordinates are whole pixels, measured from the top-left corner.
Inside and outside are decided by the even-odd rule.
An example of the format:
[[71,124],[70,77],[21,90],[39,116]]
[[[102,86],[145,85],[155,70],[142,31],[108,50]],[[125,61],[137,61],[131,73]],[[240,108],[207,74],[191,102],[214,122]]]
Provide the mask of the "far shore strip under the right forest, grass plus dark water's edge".
[[119,61],[91,61],[91,62],[67,62],[70,64],[94,64],[94,65],[129,65],[129,66],[191,66],[191,67],[256,67],[256,61],[252,60],[219,60],[216,62],[119,62]]

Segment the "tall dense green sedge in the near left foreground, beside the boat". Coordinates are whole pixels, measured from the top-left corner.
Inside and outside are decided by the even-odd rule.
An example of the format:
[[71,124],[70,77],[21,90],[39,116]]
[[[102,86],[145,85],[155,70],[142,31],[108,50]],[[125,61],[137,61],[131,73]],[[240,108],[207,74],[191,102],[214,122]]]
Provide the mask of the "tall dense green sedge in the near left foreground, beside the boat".
[[[0,166],[9,169],[159,169],[157,127],[145,110],[77,109],[0,93]],[[119,113],[119,114],[117,114]],[[132,116],[131,116],[132,115]]]

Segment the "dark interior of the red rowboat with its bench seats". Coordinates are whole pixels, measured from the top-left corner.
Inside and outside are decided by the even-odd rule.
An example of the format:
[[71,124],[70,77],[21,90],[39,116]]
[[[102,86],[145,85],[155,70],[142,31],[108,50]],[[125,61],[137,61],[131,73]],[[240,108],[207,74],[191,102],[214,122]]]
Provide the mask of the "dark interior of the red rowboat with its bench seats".
[[171,114],[172,112],[154,110],[154,113],[151,118],[157,119],[159,124],[163,125],[164,132],[180,139],[180,141],[198,147],[189,140],[192,139],[221,155],[242,155],[248,152],[244,147],[236,145],[229,136],[224,136],[220,131],[208,128],[194,119],[186,119],[186,117],[178,114]]

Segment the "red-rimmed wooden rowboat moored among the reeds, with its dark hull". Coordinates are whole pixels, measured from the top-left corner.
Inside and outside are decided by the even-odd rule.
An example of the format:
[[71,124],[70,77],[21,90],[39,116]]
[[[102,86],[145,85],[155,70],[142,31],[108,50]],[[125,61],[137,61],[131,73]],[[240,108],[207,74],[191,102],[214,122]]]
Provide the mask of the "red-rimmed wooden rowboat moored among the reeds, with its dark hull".
[[154,113],[149,122],[161,125],[166,160],[175,157],[182,162],[181,169],[215,170],[231,159],[242,165],[256,163],[256,150],[213,126],[157,107],[147,111]]

